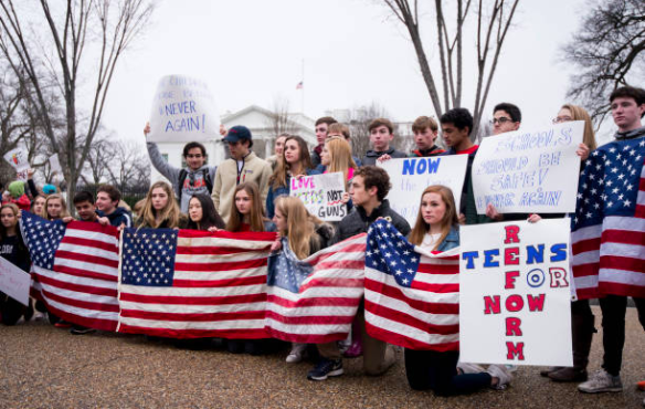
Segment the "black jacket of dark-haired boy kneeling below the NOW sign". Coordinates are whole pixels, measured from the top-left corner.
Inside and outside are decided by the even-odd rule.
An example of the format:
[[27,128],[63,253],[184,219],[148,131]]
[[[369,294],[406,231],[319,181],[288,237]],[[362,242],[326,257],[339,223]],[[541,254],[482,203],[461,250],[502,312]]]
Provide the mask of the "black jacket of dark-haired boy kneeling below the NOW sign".
[[410,233],[411,229],[408,221],[401,214],[392,210],[390,208],[390,202],[385,199],[378,208],[372,210],[370,216],[366,214],[362,207],[356,206],[353,210],[338,223],[336,234],[330,244],[349,239],[356,234],[367,233],[370,224],[372,224],[378,218],[388,219],[403,235]]

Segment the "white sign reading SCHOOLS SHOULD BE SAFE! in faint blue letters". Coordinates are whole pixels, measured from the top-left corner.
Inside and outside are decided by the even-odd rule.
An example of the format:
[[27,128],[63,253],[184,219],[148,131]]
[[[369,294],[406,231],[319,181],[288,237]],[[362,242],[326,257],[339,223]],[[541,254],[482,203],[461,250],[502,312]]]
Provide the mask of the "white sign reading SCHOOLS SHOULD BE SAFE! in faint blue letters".
[[584,122],[484,138],[473,162],[477,213],[493,203],[500,213],[575,210]]

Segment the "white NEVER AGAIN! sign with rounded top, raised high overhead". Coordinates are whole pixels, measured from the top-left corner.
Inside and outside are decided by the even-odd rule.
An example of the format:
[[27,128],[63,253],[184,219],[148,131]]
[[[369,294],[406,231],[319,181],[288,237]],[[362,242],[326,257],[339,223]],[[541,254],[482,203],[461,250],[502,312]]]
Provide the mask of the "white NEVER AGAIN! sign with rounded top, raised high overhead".
[[168,75],[157,85],[148,141],[208,141],[220,137],[220,115],[205,82]]

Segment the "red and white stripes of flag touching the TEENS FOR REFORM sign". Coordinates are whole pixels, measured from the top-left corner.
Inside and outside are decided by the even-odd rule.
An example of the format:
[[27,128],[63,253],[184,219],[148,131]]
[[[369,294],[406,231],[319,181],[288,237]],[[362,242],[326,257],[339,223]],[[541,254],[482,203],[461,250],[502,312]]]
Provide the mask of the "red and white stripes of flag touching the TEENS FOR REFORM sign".
[[433,254],[419,247],[411,287],[366,266],[366,327],[377,339],[420,350],[459,348],[459,250]]

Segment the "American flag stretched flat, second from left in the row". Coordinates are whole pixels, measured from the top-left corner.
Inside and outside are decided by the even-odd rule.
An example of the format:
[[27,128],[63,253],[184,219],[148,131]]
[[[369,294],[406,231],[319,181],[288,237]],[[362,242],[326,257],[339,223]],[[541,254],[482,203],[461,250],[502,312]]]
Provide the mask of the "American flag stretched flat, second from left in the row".
[[275,233],[125,229],[118,332],[169,338],[265,338]]

